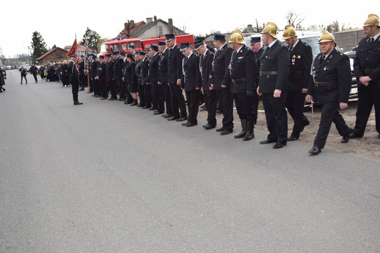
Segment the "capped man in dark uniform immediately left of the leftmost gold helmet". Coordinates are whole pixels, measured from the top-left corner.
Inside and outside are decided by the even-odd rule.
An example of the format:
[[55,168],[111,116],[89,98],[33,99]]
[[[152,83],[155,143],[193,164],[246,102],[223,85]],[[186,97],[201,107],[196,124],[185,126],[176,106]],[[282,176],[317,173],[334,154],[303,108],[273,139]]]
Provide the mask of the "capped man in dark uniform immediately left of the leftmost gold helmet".
[[219,106],[222,108],[222,127],[217,129],[220,135],[231,134],[234,131],[234,98],[231,93],[230,61],[232,48],[227,45],[225,35],[214,34],[214,46],[217,49],[212,63],[210,90],[218,95]]

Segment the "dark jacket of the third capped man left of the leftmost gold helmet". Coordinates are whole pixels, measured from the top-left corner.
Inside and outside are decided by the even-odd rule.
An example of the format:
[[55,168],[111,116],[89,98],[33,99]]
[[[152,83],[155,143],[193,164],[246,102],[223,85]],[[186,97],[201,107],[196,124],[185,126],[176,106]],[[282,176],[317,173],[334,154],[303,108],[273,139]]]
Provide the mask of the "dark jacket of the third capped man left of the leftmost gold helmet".
[[201,72],[199,70],[199,56],[192,53],[189,58],[182,60],[181,89],[185,92],[201,88]]

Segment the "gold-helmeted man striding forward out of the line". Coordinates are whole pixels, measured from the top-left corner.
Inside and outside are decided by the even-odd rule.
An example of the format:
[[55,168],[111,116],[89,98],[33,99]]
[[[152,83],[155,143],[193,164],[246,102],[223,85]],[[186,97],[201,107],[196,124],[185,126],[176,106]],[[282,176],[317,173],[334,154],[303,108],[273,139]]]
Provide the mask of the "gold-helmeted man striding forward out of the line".
[[306,102],[311,102],[313,97],[314,104],[322,106],[318,133],[313,148],[309,151],[313,155],[319,154],[325,147],[332,122],[339,135],[343,136],[341,143],[348,142],[353,132],[338,110],[348,107],[352,83],[350,58],[335,49],[335,38],[327,31],[322,33],[318,43],[321,53],[312,64],[314,83],[309,85],[306,96]]

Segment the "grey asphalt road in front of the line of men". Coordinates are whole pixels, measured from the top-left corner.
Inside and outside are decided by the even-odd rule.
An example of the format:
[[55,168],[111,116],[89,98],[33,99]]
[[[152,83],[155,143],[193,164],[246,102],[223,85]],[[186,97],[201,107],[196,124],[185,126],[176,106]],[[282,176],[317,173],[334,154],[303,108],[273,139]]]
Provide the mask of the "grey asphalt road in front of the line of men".
[[380,251],[380,162],[7,74],[0,252]]

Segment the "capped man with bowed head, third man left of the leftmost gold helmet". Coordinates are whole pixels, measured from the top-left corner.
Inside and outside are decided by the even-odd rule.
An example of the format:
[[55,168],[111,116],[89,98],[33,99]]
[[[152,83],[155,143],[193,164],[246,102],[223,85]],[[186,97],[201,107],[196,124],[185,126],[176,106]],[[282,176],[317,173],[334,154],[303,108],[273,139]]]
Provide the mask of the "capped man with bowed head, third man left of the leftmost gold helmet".
[[185,90],[188,108],[187,121],[184,126],[198,124],[198,107],[201,96],[201,72],[199,70],[199,56],[193,53],[190,43],[181,43],[180,52],[185,56],[182,59],[182,76],[180,88]]

